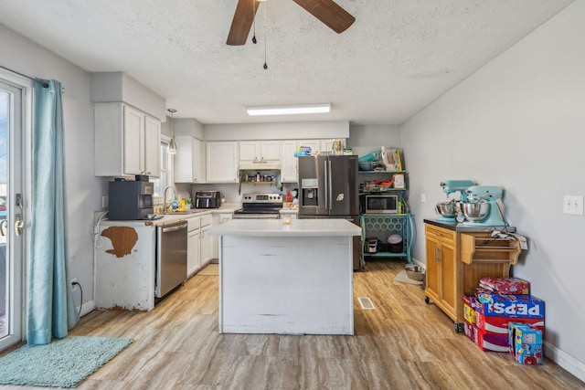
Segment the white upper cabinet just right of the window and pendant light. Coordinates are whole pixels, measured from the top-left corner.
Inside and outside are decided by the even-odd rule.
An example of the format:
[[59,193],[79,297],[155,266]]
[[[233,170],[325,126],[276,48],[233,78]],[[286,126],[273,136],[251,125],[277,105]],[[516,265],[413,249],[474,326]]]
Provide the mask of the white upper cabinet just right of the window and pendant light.
[[205,142],[188,136],[176,136],[175,142],[175,182],[206,183]]

